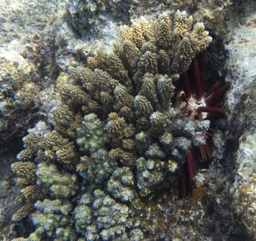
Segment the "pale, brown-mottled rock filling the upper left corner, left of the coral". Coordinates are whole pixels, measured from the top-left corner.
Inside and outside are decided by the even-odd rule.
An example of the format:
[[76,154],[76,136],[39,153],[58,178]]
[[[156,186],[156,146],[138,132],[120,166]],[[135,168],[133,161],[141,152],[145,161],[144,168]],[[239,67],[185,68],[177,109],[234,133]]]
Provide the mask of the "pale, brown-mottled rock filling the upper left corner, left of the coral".
[[46,72],[53,73],[55,67],[50,66],[52,58],[49,58],[53,49],[44,48],[46,45],[41,41],[46,29],[56,18],[61,18],[64,9],[63,1],[0,2],[1,145],[14,135],[22,137],[44,116],[44,110],[39,109],[49,94],[42,90],[47,77],[41,71],[49,64]]

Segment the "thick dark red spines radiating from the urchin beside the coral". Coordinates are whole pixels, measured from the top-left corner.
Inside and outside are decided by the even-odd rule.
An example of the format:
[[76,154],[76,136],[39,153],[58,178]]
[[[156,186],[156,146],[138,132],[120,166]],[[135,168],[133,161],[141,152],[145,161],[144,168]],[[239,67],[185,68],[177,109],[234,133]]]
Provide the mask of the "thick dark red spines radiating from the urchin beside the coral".
[[[226,111],[222,108],[223,106],[223,97],[225,92],[230,88],[230,83],[224,84],[224,82],[218,79],[214,85],[208,90],[207,93],[204,93],[205,89],[205,53],[201,53],[195,57],[193,60],[193,77],[190,78],[188,72],[183,73],[181,79],[183,84],[183,99],[188,103],[189,99],[192,98],[193,93],[191,89],[191,80],[194,79],[195,84],[195,99],[197,104],[201,104],[202,100],[205,102],[205,106],[197,106],[197,116],[201,116],[202,112],[207,113],[205,119],[210,119],[214,116],[224,115]],[[205,135],[205,144],[199,145],[199,153],[202,162],[207,162],[212,158],[212,151],[207,139],[212,138],[213,130],[209,129]],[[187,197],[188,191],[192,187],[193,178],[197,172],[196,162],[195,162],[195,153],[193,150],[187,153],[185,158],[185,166],[182,169],[181,176],[181,187],[180,195],[181,198]]]

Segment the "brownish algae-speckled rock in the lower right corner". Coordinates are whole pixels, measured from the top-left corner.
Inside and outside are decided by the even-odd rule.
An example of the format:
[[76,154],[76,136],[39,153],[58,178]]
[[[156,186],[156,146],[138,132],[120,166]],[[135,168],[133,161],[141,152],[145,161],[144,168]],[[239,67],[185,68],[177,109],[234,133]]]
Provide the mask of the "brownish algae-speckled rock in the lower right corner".
[[250,238],[256,238],[256,190],[255,190],[256,133],[240,139],[236,161],[236,179],[232,185],[232,208],[238,224]]

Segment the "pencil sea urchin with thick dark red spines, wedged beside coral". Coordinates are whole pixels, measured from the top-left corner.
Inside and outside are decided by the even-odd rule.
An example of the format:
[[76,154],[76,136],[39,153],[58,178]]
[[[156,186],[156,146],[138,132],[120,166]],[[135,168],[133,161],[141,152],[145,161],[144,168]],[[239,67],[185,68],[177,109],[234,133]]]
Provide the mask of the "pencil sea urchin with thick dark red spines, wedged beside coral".
[[[222,108],[224,94],[230,87],[229,83],[217,80],[212,87],[205,92],[205,52],[200,53],[193,59],[193,64],[188,71],[181,75],[181,82],[177,96],[185,102],[183,113],[189,118],[198,120],[213,120],[218,116],[226,114]],[[207,162],[212,158],[212,151],[208,139],[213,136],[213,129],[196,133],[205,137],[205,143],[198,145],[199,155],[202,162]],[[191,188],[193,177],[196,174],[195,150],[191,149],[185,158],[185,166],[182,168],[181,176],[181,197],[187,196],[187,191]]]

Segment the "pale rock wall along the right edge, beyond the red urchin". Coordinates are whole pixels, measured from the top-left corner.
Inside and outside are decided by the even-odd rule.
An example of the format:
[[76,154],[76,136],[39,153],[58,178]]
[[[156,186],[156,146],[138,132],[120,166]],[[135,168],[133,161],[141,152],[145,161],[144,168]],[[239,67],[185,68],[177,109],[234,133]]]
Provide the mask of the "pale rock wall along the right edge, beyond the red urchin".
[[[246,6],[243,22],[232,28],[232,41],[226,46],[229,53],[226,62],[232,90],[228,95],[228,108],[232,113],[228,122],[230,135],[239,138],[234,158],[234,183],[230,186],[231,208],[238,226],[249,240],[256,238],[256,13]],[[236,22],[234,23],[236,24]]]

